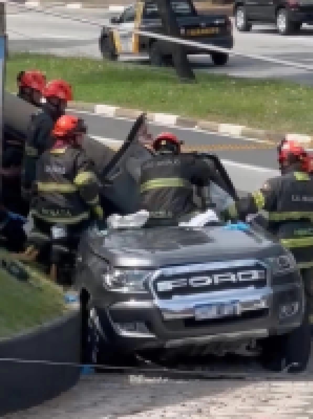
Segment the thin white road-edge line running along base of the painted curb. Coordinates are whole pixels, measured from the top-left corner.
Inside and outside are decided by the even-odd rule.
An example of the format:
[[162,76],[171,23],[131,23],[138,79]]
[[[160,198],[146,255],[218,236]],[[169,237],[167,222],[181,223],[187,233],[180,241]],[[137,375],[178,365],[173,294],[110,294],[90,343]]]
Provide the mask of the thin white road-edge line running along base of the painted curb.
[[[125,116],[107,116],[107,115],[96,114],[94,112],[89,112],[89,111],[78,111],[77,109],[68,109],[68,111],[75,112],[76,114],[98,116],[100,118],[116,119],[117,121],[127,121],[127,122],[136,121],[136,119],[126,118]],[[240,137],[238,135],[225,134],[224,132],[206,131],[205,129],[200,129],[200,128],[178,127],[176,125],[162,124],[161,122],[155,122],[155,121],[149,121],[149,124],[155,125],[156,127],[170,127],[172,129],[177,129],[180,131],[191,131],[191,132],[197,132],[199,134],[216,135],[218,137],[227,137],[231,140],[253,141],[253,142],[260,142],[260,143],[265,143],[265,144],[273,144],[272,141],[268,141],[268,140],[258,140],[257,138]]]

